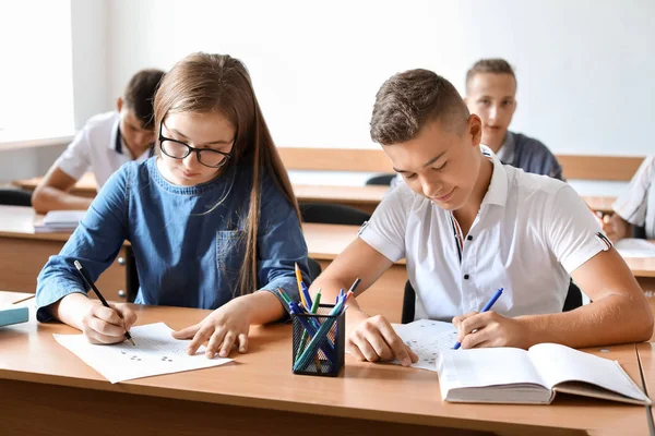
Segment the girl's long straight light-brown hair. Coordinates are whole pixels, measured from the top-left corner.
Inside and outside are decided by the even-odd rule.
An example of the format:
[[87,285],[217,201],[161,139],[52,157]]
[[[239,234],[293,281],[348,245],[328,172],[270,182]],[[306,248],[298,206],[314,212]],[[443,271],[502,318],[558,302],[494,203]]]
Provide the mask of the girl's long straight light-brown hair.
[[164,76],[155,96],[154,108],[157,129],[160,129],[162,121],[171,112],[219,112],[236,128],[233,157],[226,166],[234,168],[245,162],[250,164],[252,189],[245,219],[246,258],[234,289],[238,289],[241,295],[252,292],[257,287],[257,235],[263,171],[270,174],[277,189],[293,205],[298,220],[300,213],[246,65],[228,55],[189,55]]

